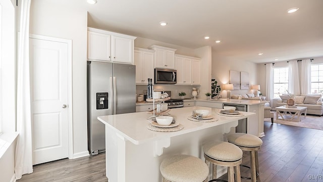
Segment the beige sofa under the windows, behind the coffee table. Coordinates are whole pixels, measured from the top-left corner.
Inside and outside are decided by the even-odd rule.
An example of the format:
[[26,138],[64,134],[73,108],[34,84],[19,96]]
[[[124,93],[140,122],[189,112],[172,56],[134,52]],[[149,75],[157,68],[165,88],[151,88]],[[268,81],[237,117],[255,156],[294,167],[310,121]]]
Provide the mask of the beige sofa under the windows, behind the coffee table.
[[[280,96],[281,100],[276,103],[276,107],[287,105],[289,95]],[[321,116],[323,114],[323,101],[321,95],[294,95],[295,106],[307,107],[307,114]]]

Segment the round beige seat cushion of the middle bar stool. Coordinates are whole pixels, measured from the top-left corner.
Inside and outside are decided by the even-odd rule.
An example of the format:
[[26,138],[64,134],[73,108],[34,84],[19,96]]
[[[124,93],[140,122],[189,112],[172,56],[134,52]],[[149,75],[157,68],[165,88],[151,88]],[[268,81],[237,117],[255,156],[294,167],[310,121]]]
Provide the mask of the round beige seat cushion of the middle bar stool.
[[220,161],[237,161],[242,158],[242,150],[228,142],[210,142],[203,147],[204,154]]

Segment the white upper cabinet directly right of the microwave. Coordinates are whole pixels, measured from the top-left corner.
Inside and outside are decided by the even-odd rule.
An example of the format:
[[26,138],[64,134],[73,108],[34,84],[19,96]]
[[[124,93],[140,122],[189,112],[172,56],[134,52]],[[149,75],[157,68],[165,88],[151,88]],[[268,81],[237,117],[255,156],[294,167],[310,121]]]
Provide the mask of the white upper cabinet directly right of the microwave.
[[201,61],[199,58],[175,55],[177,83],[181,85],[199,85],[201,79]]

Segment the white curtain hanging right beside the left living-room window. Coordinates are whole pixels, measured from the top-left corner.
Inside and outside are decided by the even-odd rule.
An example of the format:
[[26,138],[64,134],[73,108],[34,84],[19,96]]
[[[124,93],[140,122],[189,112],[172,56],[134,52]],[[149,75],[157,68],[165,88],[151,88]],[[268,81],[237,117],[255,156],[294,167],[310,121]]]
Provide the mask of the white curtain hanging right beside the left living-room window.
[[291,94],[298,95],[300,94],[299,91],[299,75],[298,75],[298,63],[297,60],[289,61],[289,75],[288,75],[288,91]]

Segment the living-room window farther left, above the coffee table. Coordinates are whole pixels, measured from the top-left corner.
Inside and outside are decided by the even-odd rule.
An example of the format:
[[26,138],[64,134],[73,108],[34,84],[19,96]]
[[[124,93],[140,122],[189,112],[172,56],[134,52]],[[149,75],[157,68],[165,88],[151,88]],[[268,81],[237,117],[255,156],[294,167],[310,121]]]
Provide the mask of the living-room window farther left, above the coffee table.
[[288,67],[274,68],[274,98],[287,94]]

